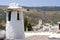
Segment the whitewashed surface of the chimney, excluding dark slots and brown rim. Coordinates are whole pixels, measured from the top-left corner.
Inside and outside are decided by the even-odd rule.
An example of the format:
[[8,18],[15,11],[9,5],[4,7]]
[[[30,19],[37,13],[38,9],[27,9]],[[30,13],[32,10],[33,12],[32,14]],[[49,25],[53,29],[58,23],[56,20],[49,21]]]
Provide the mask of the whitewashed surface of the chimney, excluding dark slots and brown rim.
[[[10,7],[16,7],[17,4],[12,4]],[[13,10],[13,9],[12,9]],[[8,21],[8,13],[6,16],[6,39],[24,39],[24,20],[23,12],[19,12],[20,20],[17,20],[17,11],[11,11],[11,21]]]

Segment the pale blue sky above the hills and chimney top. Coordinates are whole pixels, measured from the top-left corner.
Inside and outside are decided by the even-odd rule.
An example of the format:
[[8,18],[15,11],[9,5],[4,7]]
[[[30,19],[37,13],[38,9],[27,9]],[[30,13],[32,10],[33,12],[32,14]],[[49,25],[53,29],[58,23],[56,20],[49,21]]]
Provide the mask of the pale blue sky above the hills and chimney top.
[[0,5],[18,3],[21,6],[60,6],[60,0],[0,0]]

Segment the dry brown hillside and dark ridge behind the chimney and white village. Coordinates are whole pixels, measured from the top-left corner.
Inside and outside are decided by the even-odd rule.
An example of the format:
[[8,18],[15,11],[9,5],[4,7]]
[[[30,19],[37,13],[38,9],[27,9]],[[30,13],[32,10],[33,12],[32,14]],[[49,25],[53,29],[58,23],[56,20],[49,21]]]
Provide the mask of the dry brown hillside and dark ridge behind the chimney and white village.
[[[6,14],[2,10],[7,6],[0,6],[0,21],[6,20]],[[60,21],[60,7],[24,7],[24,17],[28,18],[28,21],[32,25],[38,24],[39,20],[43,23],[57,23]]]

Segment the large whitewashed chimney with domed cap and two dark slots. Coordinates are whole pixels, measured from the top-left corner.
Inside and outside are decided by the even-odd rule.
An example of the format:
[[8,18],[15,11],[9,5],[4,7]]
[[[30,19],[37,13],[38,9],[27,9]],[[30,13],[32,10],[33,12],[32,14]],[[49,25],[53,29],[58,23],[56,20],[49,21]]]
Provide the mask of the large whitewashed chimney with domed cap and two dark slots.
[[24,18],[22,7],[12,3],[6,10],[6,39],[24,40]]

